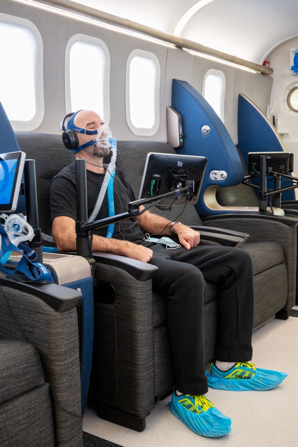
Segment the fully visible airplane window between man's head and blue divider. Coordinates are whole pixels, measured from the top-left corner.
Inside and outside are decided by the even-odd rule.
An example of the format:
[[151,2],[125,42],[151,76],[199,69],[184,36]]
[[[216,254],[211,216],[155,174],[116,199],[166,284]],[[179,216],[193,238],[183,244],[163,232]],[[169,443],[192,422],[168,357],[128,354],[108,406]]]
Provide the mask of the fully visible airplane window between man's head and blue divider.
[[159,78],[157,57],[134,50],[126,65],[126,121],[135,135],[154,135],[159,127]]

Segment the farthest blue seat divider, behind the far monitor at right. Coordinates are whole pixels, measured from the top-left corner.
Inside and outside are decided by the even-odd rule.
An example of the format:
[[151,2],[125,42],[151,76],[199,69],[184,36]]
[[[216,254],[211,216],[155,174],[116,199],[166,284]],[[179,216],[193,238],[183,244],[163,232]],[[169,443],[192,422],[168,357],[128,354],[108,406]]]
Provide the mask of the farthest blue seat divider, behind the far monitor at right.
[[[248,166],[248,152],[283,152],[285,151],[281,137],[275,127],[268,121],[267,117],[248,97],[239,93],[238,101],[238,144],[246,166]],[[252,180],[259,185],[259,180]],[[273,188],[274,181],[268,181],[267,186]],[[281,187],[290,186],[289,183],[281,181]],[[258,190],[255,190],[256,196]],[[281,200],[295,200],[294,190],[281,194]]]

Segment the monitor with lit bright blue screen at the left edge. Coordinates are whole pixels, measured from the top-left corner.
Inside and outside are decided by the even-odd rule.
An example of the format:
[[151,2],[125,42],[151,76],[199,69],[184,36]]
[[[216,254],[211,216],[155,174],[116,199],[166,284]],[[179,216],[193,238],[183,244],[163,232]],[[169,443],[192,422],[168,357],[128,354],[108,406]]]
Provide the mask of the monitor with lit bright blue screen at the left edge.
[[17,208],[25,157],[21,151],[0,154],[0,212]]

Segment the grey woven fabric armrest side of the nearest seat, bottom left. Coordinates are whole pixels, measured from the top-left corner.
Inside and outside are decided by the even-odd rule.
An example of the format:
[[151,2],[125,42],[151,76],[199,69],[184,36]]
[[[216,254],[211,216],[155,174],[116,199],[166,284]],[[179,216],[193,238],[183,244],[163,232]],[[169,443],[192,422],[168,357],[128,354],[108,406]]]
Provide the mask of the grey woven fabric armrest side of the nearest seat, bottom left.
[[[48,393],[50,388],[50,414],[53,415],[54,421],[55,445],[82,446],[80,356],[76,308],[65,312],[55,312],[37,296],[3,285],[0,285],[0,308],[0,339],[19,341],[18,343],[21,342],[23,345],[26,342],[29,343],[29,346],[34,346],[34,354],[29,353],[28,363],[24,362],[26,370],[23,374],[17,369],[12,374],[16,380],[21,377],[22,383],[14,387],[9,385],[9,388],[12,388],[13,394],[17,392],[13,391],[14,388],[17,390],[17,387],[24,386],[25,389],[26,378],[31,377],[30,380],[33,380],[36,386],[33,391],[29,391],[32,393],[32,402],[30,405],[28,404],[28,408],[32,407],[32,414],[35,415],[38,413],[34,397],[35,390],[38,390],[38,387],[44,387]],[[32,351],[32,348],[29,347],[27,350]],[[39,366],[39,369],[35,370],[37,372],[33,374],[29,362],[30,365],[36,365],[38,357],[42,371]],[[21,354],[16,354],[16,361],[21,358]],[[10,370],[12,368],[13,364]],[[47,383],[45,383],[45,378]],[[12,404],[14,399],[22,398],[20,396],[13,397],[13,394]],[[38,399],[41,401],[42,396],[43,392],[38,393]],[[8,401],[5,401],[5,405],[7,403]],[[12,412],[17,411],[17,401],[14,405]],[[24,408],[27,408],[25,403]],[[10,411],[9,406],[5,407],[5,412],[7,411]],[[21,417],[21,413],[19,417]],[[36,417],[38,418],[39,415]],[[42,419],[41,422],[43,422]],[[14,445],[18,445],[18,443]],[[20,443],[20,445],[22,444]],[[40,443],[39,445],[47,444]]]

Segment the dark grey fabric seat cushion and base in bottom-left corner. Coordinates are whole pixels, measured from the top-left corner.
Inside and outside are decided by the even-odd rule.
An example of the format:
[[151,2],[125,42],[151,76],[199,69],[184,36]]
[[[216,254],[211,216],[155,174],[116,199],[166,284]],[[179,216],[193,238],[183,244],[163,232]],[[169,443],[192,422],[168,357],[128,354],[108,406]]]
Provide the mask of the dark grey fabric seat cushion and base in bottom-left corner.
[[55,446],[49,384],[37,350],[0,340],[0,445]]

